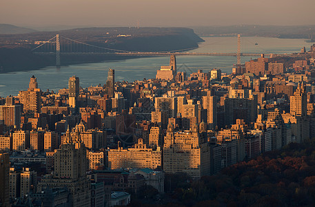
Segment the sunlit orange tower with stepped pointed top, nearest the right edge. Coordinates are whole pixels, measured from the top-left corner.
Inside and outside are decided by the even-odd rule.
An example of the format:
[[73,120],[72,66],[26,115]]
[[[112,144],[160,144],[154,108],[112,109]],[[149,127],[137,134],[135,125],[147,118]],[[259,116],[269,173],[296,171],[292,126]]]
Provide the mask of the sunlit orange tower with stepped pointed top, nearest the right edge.
[[298,83],[298,88],[290,97],[290,114],[293,116],[307,115],[307,95],[303,81]]

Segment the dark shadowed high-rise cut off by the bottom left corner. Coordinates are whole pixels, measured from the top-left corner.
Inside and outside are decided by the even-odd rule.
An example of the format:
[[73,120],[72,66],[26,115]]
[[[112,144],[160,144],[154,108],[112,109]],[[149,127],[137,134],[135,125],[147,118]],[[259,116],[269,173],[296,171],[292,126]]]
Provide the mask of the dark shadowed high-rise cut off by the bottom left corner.
[[10,172],[9,154],[0,153],[0,206],[10,206],[9,172]]

